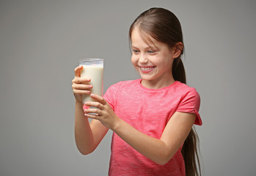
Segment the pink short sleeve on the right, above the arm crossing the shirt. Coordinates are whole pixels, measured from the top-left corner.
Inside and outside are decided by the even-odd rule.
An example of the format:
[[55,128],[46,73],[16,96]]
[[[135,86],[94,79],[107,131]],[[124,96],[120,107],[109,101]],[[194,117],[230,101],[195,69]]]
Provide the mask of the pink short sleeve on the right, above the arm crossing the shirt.
[[196,120],[194,121],[195,125],[202,125],[202,120],[199,114],[200,109],[200,95],[197,90],[194,88],[189,89],[186,92],[186,95],[183,95],[182,100],[180,100],[180,104],[176,111],[180,112],[189,112],[196,114]]

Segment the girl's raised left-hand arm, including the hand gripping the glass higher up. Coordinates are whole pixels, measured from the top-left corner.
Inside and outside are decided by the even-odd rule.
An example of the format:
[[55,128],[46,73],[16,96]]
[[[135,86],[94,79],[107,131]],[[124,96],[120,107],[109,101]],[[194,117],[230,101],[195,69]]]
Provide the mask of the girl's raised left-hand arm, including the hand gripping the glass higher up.
[[80,153],[87,155],[95,150],[106,135],[108,129],[98,122],[98,120],[92,120],[92,122],[89,123],[88,118],[84,116],[81,96],[83,94],[89,95],[92,87],[88,84],[89,79],[80,77],[81,69],[82,66],[76,67],[75,78],[73,78],[72,81],[73,94],[76,98],[75,138],[76,146]]

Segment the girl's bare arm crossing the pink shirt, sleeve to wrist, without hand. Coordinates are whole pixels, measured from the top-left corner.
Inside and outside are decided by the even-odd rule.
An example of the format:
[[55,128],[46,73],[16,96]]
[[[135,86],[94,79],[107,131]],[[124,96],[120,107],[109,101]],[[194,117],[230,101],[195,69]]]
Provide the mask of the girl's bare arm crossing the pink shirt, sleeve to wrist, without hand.
[[113,131],[139,153],[157,164],[166,164],[183,144],[194,124],[195,115],[175,112],[164,128],[160,139],[137,131],[128,123],[120,120]]

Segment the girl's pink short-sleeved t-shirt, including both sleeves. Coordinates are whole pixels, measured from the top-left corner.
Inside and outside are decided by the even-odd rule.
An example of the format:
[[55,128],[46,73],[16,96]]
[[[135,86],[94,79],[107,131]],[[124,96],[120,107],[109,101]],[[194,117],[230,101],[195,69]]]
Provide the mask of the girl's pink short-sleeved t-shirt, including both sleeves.
[[[167,122],[175,111],[197,115],[194,124],[202,125],[200,96],[196,89],[179,81],[162,89],[147,89],[142,80],[121,81],[106,91],[104,98],[118,117],[137,130],[160,139]],[[181,147],[171,160],[158,165],[140,154],[113,133],[109,175],[184,175],[185,165]]]

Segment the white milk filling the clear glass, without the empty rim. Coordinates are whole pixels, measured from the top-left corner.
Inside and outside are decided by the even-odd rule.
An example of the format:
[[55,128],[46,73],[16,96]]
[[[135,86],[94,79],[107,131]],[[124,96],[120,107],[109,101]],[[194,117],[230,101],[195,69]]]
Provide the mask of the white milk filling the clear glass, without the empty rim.
[[[82,64],[81,64],[82,65]],[[89,84],[92,84],[91,93],[95,95],[103,95],[103,65],[83,65],[81,77],[90,78]],[[89,95],[82,95],[83,103],[87,101],[95,101]]]

